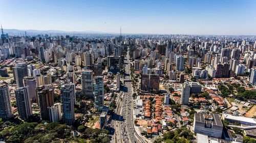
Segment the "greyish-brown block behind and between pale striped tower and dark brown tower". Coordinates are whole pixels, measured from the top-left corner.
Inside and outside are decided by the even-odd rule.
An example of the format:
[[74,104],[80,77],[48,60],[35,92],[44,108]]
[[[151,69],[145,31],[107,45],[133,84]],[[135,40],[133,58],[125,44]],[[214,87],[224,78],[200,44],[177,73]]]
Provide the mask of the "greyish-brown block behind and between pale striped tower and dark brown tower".
[[23,78],[24,86],[29,88],[29,97],[31,101],[36,100],[36,92],[35,89],[37,88],[36,78],[26,76]]

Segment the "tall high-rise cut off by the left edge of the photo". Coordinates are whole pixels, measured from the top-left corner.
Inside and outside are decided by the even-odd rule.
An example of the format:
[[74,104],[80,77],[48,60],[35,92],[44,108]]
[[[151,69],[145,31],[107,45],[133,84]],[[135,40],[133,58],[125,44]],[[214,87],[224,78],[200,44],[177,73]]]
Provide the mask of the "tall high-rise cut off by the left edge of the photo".
[[7,84],[0,83],[0,118],[6,120],[12,117],[12,106]]

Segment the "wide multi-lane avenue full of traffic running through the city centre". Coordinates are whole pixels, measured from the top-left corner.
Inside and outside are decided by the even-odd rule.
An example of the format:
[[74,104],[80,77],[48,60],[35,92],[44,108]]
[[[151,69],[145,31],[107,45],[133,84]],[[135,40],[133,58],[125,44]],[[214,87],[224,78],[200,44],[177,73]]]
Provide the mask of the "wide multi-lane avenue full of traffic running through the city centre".
[[[125,63],[130,63],[129,48],[127,51]],[[125,64],[124,79],[131,79],[130,64]],[[115,142],[145,142],[134,129],[133,119],[133,86],[131,81],[125,81],[123,95],[117,97],[117,108],[115,109]]]

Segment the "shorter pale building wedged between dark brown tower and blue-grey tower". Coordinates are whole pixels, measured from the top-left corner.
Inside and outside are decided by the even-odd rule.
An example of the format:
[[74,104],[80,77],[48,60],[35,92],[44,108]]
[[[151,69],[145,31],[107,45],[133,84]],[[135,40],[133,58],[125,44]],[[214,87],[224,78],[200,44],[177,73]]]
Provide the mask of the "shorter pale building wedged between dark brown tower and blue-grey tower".
[[59,122],[61,120],[61,103],[55,103],[51,107],[47,107],[47,109],[50,122]]

